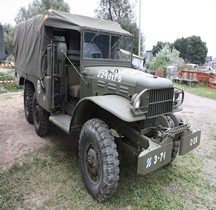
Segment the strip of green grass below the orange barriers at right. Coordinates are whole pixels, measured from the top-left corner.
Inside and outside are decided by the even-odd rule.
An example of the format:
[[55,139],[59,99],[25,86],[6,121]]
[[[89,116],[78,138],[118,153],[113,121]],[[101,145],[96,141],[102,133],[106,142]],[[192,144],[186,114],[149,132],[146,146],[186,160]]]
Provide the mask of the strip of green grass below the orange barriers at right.
[[180,88],[184,91],[193,93],[198,96],[210,98],[216,100],[216,90],[209,88],[205,84],[199,84],[194,87],[190,87],[189,85],[186,84],[179,84],[179,83],[174,83],[174,87]]

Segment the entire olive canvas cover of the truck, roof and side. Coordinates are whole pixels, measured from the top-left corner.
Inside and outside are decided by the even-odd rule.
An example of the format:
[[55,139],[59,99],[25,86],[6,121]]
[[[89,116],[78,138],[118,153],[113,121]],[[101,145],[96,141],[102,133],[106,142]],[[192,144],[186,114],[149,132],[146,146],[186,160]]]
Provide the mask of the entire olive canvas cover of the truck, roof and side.
[[46,48],[51,42],[50,30],[46,27],[106,31],[116,34],[131,34],[112,21],[49,10],[18,24],[14,29],[15,68],[33,76],[41,77],[46,69]]

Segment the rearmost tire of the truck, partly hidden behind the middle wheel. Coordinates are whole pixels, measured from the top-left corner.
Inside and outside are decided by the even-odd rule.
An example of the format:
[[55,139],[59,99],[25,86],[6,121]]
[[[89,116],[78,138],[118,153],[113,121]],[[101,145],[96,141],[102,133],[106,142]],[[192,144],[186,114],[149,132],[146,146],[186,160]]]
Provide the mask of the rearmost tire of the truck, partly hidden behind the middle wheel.
[[24,111],[28,123],[33,124],[32,103],[34,95],[34,86],[30,82],[26,82],[24,89]]

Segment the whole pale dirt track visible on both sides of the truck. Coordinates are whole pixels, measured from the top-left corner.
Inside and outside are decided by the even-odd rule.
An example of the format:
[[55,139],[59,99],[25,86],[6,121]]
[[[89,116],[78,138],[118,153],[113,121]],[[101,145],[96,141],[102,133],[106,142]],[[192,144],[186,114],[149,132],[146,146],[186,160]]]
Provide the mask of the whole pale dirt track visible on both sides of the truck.
[[[216,125],[216,101],[186,93],[184,110],[179,115],[189,121],[192,128],[202,131],[201,145],[196,152],[203,157],[212,154],[215,142],[208,135]],[[38,137],[34,126],[25,120],[23,92],[0,94],[0,170],[7,169],[36,148],[70,138],[57,128],[44,138]],[[215,165],[215,159],[208,159],[206,170],[216,175]]]

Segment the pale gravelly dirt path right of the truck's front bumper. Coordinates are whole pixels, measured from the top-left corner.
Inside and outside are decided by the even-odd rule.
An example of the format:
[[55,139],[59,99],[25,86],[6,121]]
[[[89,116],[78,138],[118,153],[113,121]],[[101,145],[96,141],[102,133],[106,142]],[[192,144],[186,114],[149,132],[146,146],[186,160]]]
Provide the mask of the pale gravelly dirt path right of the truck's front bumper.
[[201,143],[194,152],[204,160],[201,170],[206,179],[216,185],[216,139],[211,135],[213,132],[215,135],[216,101],[186,93],[184,110],[180,114],[192,128],[201,130]]

